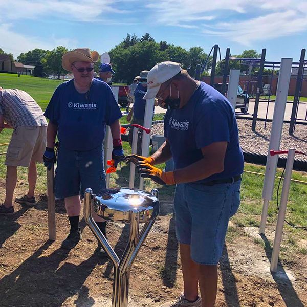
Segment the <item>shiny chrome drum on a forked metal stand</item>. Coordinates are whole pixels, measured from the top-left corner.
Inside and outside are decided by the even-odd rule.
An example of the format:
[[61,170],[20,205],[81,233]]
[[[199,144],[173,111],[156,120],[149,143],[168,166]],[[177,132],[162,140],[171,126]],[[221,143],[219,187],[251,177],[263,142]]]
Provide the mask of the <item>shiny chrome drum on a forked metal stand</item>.
[[[84,220],[99,240],[114,265],[112,307],[127,307],[130,269],[160,211],[159,192],[150,193],[128,188],[109,189],[102,195],[85,191]],[[92,216],[96,214],[107,221],[130,224],[130,235],[121,260],[98,228]],[[139,233],[139,224],[144,226]]]

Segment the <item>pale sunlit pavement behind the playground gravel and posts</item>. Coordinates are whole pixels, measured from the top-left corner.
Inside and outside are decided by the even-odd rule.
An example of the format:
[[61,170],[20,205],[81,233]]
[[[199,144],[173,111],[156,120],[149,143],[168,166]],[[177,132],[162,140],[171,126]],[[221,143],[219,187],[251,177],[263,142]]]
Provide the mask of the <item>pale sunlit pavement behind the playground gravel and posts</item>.
[[[266,118],[266,113],[267,113],[267,102],[259,102],[259,108],[258,108],[258,118]],[[132,107],[132,105],[130,105]],[[254,112],[254,107],[255,107],[255,101],[251,100],[249,103],[249,109],[247,115],[252,115]],[[165,113],[166,109],[156,106],[155,107],[155,113]],[[287,103],[286,105],[286,112],[284,114],[284,120],[290,120],[291,117],[291,112],[292,112],[292,103]],[[305,119],[307,112],[307,103],[300,103],[299,108],[298,108],[298,118],[299,119]],[[274,113],[274,103],[270,102],[269,103],[269,109],[268,109],[268,119],[273,119],[273,113]],[[123,112],[123,114],[126,114]],[[242,113],[239,112],[239,109],[236,109],[236,114],[237,115],[243,115]],[[250,116],[248,116],[250,117]]]

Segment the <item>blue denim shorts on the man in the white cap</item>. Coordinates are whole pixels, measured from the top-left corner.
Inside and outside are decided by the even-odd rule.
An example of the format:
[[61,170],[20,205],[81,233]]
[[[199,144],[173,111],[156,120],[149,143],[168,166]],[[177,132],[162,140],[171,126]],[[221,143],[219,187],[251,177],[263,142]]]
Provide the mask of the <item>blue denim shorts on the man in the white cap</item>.
[[217,265],[222,256],[228,221],[240,204],[240,184],[206,186],[177,184],[174,211],[178,242],[191,246],[191,258],[202,265]]

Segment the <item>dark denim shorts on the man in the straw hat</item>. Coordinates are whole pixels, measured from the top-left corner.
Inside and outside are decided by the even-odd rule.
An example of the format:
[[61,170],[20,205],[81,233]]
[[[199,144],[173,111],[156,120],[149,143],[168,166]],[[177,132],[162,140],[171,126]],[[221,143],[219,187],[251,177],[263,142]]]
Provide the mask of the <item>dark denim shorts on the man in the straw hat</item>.
[[95,194],[105,189],[103,148],[75,151],[60,146],[55,170],[56,198],[83,196],[87,188]]

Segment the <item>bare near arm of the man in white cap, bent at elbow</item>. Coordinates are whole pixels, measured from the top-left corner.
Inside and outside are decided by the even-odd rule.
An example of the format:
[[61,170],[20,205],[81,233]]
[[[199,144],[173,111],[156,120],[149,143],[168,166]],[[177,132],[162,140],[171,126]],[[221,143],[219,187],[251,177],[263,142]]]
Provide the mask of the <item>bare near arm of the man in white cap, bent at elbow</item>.
[[202,148],[203,159],[174,170],[176,183],[194,182],[224,170],[227,142],[215,142]]

